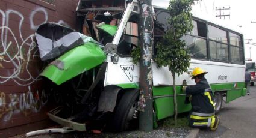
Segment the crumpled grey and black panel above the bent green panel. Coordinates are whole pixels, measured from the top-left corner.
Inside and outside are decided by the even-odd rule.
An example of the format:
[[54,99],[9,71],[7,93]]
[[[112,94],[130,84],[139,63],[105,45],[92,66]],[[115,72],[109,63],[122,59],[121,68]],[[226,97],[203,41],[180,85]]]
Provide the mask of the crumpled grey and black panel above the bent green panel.
[[36,30],[36,40],[39,47],[40,58],[42,61],[57,58],[73,47],[80,46],[84,43],[100,43],[87,37],[71,28],[62,26],[58,23],[45,23]]

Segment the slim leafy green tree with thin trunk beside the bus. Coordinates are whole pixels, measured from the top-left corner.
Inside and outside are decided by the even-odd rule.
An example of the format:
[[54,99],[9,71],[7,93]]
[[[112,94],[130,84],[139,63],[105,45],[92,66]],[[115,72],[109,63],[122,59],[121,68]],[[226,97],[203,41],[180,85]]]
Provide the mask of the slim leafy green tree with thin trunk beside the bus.
[[190,55],[186,49],[186,42],[181,40],[181,37],[193,29],[192,4],[193,0],[170,0],[170,17],[167,19],[169,29],[164,34],[163,41],[157,43],[156,47],[157,67],[168,67],[173,77],[175,125],[178,114],[175,76],[187,72],[190,67]]

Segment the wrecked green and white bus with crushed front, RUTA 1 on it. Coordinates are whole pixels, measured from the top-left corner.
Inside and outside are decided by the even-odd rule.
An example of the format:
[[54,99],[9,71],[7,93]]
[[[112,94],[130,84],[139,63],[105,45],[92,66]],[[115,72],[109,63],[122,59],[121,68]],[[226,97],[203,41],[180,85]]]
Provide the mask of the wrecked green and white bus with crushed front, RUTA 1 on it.
[[[168,29],[169,14],[164,8],[152,8],[155,47]],[[51,110],[49,118],[78,131],[93,124],[107,124],[115,131],[136,127],[139,66],[131,51],[139,46],[138,2],[80,1],[76,13],[80,32],[57,23],[40,25],[36,31],[40,57],[51,61],[40,76],[49,80],[54,100],[62,105]],[[191,109],[181,85],[183,80],[195,84],[190,79],[195,67],[208,71],[219,112],[222,101],[246,94],[243,35],[199,17],[193,17],[193,24],[193,31],[183,37],[192,58],[189,72],[176,76],[178,113]],[[157,68],[155,63],[152,74],[152,114],[157,122],[174,114],[173,79],[167,67]]]

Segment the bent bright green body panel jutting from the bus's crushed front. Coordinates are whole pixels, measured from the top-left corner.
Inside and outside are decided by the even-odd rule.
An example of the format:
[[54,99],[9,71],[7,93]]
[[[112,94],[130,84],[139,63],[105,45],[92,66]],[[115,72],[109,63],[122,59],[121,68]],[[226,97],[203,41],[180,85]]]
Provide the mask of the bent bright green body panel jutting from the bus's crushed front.
[[90,70],[106,59],[103,50],[95,43],[86,43],[75,47],[52,61],[40,76],[47,77],[60,85],[69,79]]

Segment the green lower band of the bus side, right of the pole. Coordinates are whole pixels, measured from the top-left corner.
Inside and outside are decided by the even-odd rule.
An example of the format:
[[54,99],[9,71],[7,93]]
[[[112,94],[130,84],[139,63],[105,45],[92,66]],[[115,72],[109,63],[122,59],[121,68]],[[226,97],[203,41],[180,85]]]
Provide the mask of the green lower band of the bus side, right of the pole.
[[[234,87],[235,86],[235,87]],[[157,119],[167,118],[174,115],[173,110],[173,86],[154,86],[154,109]],[[245,82],[236,83],[217,83],[211,84],[213,92],[226,91],[226,103],[235,100],[243,95]],[[188,112],[191,110],[191,104],[185,103],[186,93],[181,90],[181,86],[176,86],[178,113]]]

